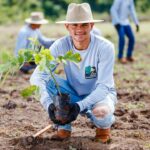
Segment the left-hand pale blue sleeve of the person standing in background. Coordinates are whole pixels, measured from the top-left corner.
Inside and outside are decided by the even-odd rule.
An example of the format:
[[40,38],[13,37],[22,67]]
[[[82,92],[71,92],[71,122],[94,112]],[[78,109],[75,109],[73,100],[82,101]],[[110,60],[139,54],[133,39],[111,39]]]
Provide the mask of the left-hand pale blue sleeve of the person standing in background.
[[110,9],[111,17],[112,17],[114,24],[120,23],[120,19],[119,19],[119,15],[118,15],[120,3],[121,3],[121,0],[114,0],[114,3]]

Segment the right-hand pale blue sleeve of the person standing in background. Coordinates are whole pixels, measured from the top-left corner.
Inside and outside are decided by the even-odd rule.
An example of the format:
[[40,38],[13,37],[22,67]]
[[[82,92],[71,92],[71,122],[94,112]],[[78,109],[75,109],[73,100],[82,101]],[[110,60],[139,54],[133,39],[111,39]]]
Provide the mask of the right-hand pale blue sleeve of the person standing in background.
[[139,21],[138,21],[137,15],[136,15],[136,11],[135,11],[135,6],[134,6],[134,1],[133,0],[131,2],[131,6],[130,6],[130,15],[131,15],[131,18],[134,21],[134,23],[136,25],[138,25]]

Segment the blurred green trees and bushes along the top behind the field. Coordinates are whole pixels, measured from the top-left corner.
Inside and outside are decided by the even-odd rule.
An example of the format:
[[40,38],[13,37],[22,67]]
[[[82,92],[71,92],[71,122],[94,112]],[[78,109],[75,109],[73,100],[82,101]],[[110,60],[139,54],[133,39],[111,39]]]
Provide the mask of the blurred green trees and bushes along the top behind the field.
[[[43,11],[48,19],[54,21],[66,13],[67,6],[71,2],[70,0],[3,0],[0,1],[0,24],[24,21],[32,11]],[[74,0],[73,2],[88,2],[94,12],[102,16],[107,14],[108,18],[113,0]],[[140,17],[143,18],[150,12],[149,0],[135,0],[135,4]]]

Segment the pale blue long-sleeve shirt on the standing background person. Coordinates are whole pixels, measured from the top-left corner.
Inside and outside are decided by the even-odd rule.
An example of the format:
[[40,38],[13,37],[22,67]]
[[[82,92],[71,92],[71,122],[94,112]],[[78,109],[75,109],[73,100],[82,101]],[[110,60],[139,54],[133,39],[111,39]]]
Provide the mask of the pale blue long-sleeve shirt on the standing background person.
[[128,25],[129,16],[136,25],[139,24],[135,11],[134,0],[114,0],[110,13],[113,25]]

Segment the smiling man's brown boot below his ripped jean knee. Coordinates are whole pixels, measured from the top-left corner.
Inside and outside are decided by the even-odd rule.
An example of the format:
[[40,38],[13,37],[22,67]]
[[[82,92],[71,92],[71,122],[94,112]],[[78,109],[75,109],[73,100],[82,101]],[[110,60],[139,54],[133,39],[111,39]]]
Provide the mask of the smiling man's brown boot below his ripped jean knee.
[[96,129],[95,141],[102,143],[110,142],[110,128],[108,129]]

